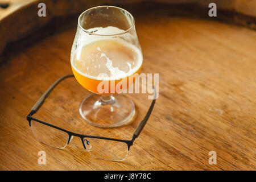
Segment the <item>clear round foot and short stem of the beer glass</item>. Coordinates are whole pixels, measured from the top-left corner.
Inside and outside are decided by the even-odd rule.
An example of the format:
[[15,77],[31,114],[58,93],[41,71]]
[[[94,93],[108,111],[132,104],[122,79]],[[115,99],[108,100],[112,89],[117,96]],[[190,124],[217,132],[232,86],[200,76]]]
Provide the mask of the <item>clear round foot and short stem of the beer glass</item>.
[[123,94],[86,97],[79,107],[82,118],[97,127],[118,127],[127,125],[135,118],[135,105]]

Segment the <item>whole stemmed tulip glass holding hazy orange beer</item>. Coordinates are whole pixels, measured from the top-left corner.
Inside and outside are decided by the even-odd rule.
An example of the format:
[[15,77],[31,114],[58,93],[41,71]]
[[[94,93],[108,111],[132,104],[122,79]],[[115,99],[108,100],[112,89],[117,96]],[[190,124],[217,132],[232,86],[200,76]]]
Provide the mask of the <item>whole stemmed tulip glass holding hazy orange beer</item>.
[[141,71],[142,60],[134,18],[128,11],[97,6],[79,16],[71,66],[79,84],[94,93],[84,98],[79,108],[86,122],[117,127],[133,121],[134,102],[115,93],[133,82],[130,80]]

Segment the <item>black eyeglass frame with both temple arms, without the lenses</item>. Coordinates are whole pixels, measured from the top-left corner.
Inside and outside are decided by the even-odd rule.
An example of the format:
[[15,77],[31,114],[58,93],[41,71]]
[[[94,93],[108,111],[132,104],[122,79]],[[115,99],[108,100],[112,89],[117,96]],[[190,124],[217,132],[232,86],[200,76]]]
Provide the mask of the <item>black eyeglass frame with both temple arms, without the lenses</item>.
[[68,143],[67,143],[67,144],[69,144],[69,142],[70,142],[72,136],[80,137],[81,140],[82,140],[82,144],[83,144],[85,150],[86,150],[86,146],[85,146],[85,144],[84,144],[84,138],[97,138],[97,139],[113,140],[113,141],[117,141],[117,142],[124,142],[124,143],[127,144],[128,151],[129,151],[129,150],[130,150],[130,146],[132,146],[134,140],[139,137],[139,134],[141,134],[141,131],[143,130],[143,127],[146,125],[146,123],[147,123],[147,121],[148,121],[148,118],[150,117],[150,114],[151,114],[151,112],[152,112],[152,109],[153,109],[153,107],[154,107],[154,105],[155,105],[155,100],[156,100],[155,89],[154,89],[154,99],[153,99],[152,102],[151,102],[150,108],[148,109],[147,114],[145,115],[145,117],[143,118],[143,120],[139,123],[137,129],[135,129],[135,131],[134,131],[134,133],[133,133],[133,138],[132,138],[131,140],[122,140],[122,139],[115,139],[115,138],[98,137],[98,136],[92,136],[92,135],[82,135],[82,134],[73,133],[73,132],[71,132],[71,131],[62,129],[62,128],[60,128],[60,127],[51,125],[51,124],[49,124],[49,123],[46,123],[46,122],[40,121],[39,119],[36,119],[36,118],[31,117],[33,114],[35,114],[35,113],[40,109],[40,107],[43,105],[44,101],[45,101],[46,98],[49,96],[49,94],[52,92],[52,90],[53,90],[61,81],[63,81],[65,78],[69,78],[69,77],[74,77],[74,75],[66,75],[66,76],[63,76],[63,77],[59,78],[59,79],[56,80],[56,81],[46,90],[46,92],[44,92],[44,94],[39,98],[39,100],[36,102],[36,104],[32,107],[30,114],[27,115],[27,121],[28,121],[30,127],[31,127],[31,120],[33,120],[33,121],[42,123],[43,125],[47,125],[47,126],[53,127],[53,128],[55,128],[55,129],[57,129],[57,130],[64,131],[65,133],[67,133],[67,134],[69,135],[69,137],[68,137]]

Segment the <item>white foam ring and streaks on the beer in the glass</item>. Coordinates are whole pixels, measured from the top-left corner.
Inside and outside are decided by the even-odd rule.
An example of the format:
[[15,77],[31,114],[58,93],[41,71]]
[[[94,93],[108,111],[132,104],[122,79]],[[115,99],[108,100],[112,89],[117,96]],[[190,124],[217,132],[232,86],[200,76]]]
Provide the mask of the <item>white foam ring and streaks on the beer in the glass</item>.
[[[120,34],[120,33],[124,32],[123,30],[121,30],[117,27],[112,27],[112,26],[105,27],[105,28],[102,28],[102,27],[90,28],[88,31],[93,32],[94,34],[100,34],[100,35],[110,35],[110,33],[111,34]],[[129,33],[126,33],[126,34],[127,34],[127,35],[125,35],[126,38],[129,38],[129,36],[131,36]],[[98,40],[106,40],[106,41],[107,40],[115,40],[115,41],[123,44],[124,46],[129,47],[131,49],[131,51],[133,51],[135,53],[135,55],[137,56],[136,65],[134,66],[134,61],[133,61],[134,68],[131,68],[131,64],[129,62],[127,62],[129,71],[128,72],[121,71],[118,67],[113,67],[113,61],[111,59],[109,59],[109,57],[106,56],[104,52],[101,52],[100,59],[101,58],[106,59],[105,66],[106,66],[106,68],[108,68],[108,70],[110,72],[110,77],[109,76],[96,77],[96,76],[89,75],[89,73],[84,73],[84,72],[80,71],[76,66],[74,66],[73,65],[74,57],[71,56],[72,67],[77,72],[79,72],[81,75],[83,75],[85,77],[92,78],[94,80],[119,80],[121,78],[125,78],[127,76],[133,75],[135,72],[138,71],[139,68],[141,68],[143,58],[142,58],[141,50],[139,48],[137,48],[133,44],[130,44],[129,42],[127,42],[119,37],[111,37],[111,36],[108,37],[108,36],[100,36],[100,35],[95,36],[92,34],[90,34],[90,35],[86,34],[86,35],[84,35],[86,37],[83,37],[81,39],[79,38],[79,40],[80,40],[80,43],[78,43],[79,46],[77,47],[77,50],[73,54],[73,56],[76,56],[76,60],[80,60],[82,47],[86,46],[87,44],[97,42]],[[102,48],[97,47],[97,50],[102,51]],[[96,68],[96,66],[95,66],[95,68]],[[100,64],[98,64],[98,68],[100,68]]]

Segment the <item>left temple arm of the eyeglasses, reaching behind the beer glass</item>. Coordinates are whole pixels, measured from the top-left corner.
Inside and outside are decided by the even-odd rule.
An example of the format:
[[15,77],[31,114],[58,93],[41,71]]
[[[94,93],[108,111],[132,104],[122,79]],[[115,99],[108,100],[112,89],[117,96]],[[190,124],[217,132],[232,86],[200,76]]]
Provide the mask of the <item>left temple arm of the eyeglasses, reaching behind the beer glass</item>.
[[44,100],[46,100],[46,98],[49,96],[49,94],[52,92],[52,90],[55,88],[55,86],[57,86],[57,84],[59,84],[61,81],[63,81],[65,78],[68,78],[68,77],[74,77],[74,75],[66,75],[66,76],[63,76],[61,78],[59,78],[58,80],[56,80],[47,90],[46,92],[44,92],[43,96],[41,96],[39,98],[39,100],[36,102],[36,104],[32,107],[31,109],[31,112],[30,112],[30,116],[32,114],[35,114],[39,109],[40,107],[43,105],[44,103]]

